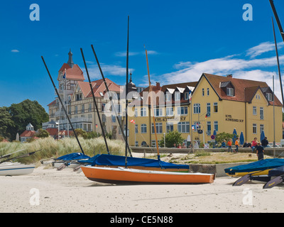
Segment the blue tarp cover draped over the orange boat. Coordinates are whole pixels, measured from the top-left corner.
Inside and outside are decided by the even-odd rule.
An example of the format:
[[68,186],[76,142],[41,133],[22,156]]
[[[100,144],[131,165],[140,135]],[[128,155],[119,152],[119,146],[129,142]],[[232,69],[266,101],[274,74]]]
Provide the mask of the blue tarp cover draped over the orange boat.
[[[83,163],[89,163],[90,165],[109,165],[109,166],[124,166],[125,157],[119,155],[95,155],[89,160],[80,160]],[[127,167],[131,166],[144,166],[144,167],[162,167],[165,169],[189,169],[189,165],[178,165],[168,162],[163,162],[154,159],[141,158],[141,157],[127,157]]]

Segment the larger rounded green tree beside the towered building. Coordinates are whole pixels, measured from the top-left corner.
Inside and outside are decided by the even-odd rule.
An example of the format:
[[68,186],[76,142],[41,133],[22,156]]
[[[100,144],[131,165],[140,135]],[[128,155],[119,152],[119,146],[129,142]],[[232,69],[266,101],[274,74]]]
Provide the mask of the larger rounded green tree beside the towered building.
[[43,106],[38,104],[38,101],[31,101],[26,99],[19,104],[11,104],[7,108],[11,115],[11,120],[14,122],[14,126],[10,127],[8,132],[10,133],[10,140],[16,138],[16,133],[23,133],[26,130],[28,123],[33,125],[35,131],[41,128],[42,123],[49,120]]

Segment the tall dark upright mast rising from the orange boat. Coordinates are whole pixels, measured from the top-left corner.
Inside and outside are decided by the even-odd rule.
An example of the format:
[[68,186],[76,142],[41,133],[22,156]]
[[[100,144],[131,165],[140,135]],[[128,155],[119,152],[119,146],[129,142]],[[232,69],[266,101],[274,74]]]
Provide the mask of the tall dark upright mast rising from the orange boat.
[[125,131],[126,131],[126,143],[125,143],[125,167],[127,167],[127,137],[128,137],[128,114],[127,107],[129,102],[127,101],[127,94],[129,94],[129,16],[128,16],[128,24],[127,24],[127,50],[126,50],[126,87],[125,87]]

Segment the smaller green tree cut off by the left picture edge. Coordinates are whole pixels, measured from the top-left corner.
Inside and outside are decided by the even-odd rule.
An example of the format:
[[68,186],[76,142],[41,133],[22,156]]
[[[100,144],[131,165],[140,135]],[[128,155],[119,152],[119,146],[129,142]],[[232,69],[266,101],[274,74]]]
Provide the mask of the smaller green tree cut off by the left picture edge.
[[13,123],[7,107],[0,107],[0,135],[4,138],[11,138],[9,131],[13,127],[15,127],[15,123]]

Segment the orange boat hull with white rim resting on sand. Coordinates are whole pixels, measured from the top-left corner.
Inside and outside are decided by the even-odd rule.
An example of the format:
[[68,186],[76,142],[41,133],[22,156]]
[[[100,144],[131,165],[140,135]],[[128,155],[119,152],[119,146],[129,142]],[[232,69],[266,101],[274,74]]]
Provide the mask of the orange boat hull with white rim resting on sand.
[[109,167],[81,167],[84,175],[95,182],[133,184],[204,184],[214,182],[214,174],[163,172]]

